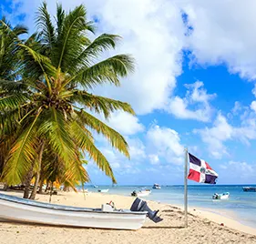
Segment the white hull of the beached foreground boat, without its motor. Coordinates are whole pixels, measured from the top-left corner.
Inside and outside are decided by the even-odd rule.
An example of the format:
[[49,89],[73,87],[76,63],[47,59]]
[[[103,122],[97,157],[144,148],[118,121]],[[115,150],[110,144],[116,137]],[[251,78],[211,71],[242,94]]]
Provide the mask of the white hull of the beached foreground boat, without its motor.
[[[69,210],[70,208],[73,210]],[[85,210],[70,208],[44,208],[0,199],[0,218],[56,226],[139,229],[144,224],[147,215],[147,212],[132,212],[129,210],[125,212],[103,212],[100,209],[95,210],[93,208],[84,208]]]

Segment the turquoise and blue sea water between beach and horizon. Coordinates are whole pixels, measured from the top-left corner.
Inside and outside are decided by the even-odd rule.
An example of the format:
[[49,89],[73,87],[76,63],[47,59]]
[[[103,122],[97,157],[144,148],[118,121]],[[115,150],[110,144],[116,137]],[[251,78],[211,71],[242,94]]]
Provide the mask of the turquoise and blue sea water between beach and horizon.
[[[248,185],[247,185],[248,186]],[[253,185],[250,185],[253,186]],[[189,207],[210,208],[220,213],[223,210],[232,212],[232,218],[241,223],[256,228],[256,192],[244,192],[243,185],[197,185],[189,186]],[[254,185],[255,187],[255,185]],[[97,188],[85,186],[90,191]],[[152,193],[145,199],[160,201],[162,203],[183,204],[183,186],[162,186],[161,189],[152,189],[152,186],[98,186],[98,188],[109,188],[108,194],[130,196],[131,191],[138,188],[150,188]],[[214,193],[230,192],[229,200],[212,200]]]

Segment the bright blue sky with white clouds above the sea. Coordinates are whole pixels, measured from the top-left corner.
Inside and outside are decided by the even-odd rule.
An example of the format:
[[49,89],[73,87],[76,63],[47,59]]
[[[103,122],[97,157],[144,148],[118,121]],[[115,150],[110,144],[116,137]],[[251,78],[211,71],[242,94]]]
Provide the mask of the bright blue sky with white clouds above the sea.
[[[52,15],[56,1],[48,0]],[[218,184],[256,183],[256,1],[62,0],[87,7],[103,33],[123,37],[106,56],[134,56],[121,87],[93,93],[129,102],[137,117],[108,125],[128,141],[130,160],[97,137],[119,185],[183,184],[184,147],[219,173]],[[0,15],[36,31],[40,0],[0,0]],[[93,163],[93,184],[111,181]],[[193,182],[189,182],[193,184]]]

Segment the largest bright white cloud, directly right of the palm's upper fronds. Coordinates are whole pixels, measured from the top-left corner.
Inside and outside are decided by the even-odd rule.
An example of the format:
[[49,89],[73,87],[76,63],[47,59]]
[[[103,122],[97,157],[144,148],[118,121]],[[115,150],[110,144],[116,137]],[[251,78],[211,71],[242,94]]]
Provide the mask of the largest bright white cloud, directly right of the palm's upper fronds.
[[164,0],[108,0],[97,12],[102,30],[123,36],[118,51],[136,59],[135,74],[121,88],[108,86],[97,92],[128,101],[138,114],[163,108],[181,72],[184,37],[177,6]]

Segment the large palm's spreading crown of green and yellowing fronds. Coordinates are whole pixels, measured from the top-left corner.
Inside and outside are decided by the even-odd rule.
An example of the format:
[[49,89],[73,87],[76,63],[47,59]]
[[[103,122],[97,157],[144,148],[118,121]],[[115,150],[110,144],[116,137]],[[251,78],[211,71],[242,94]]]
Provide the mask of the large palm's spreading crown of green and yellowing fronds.
[[[3,178],[16,184],[24,180],[31,168],[39,172],[43,152],[48,148],[64,168],[65,177],[76,172],[76,180],[88,180],[81,167],[83,153],[116,183],[107,158],[95,146],[92,131],[107,137],[112,147],[129,158],[128,144],[90,112],[108,118],[115,110],[132,115],[134,111],[128,103],[96,96],[89,90],[106,82],[119,86],[119,78],[133,70],[133,59],[128,55],[102,58],[101,54],[115,48],[120,37],[103,34],[91,41],[88,33],[94,33],[94,25],[87,22],[84,5],[69,13],[57,5],[54,25],[43,3],[36,23],[40,43],[17,44],[23,50],[22,78],[0,81],[1,90],[5,91],[0,100],[0,107],[5,107],[1,117],[14,118],[7,120],[7,125],[1,119],[1,127],[15,128],[16,135]],[[74,183],[74,177],[71,178]]]

